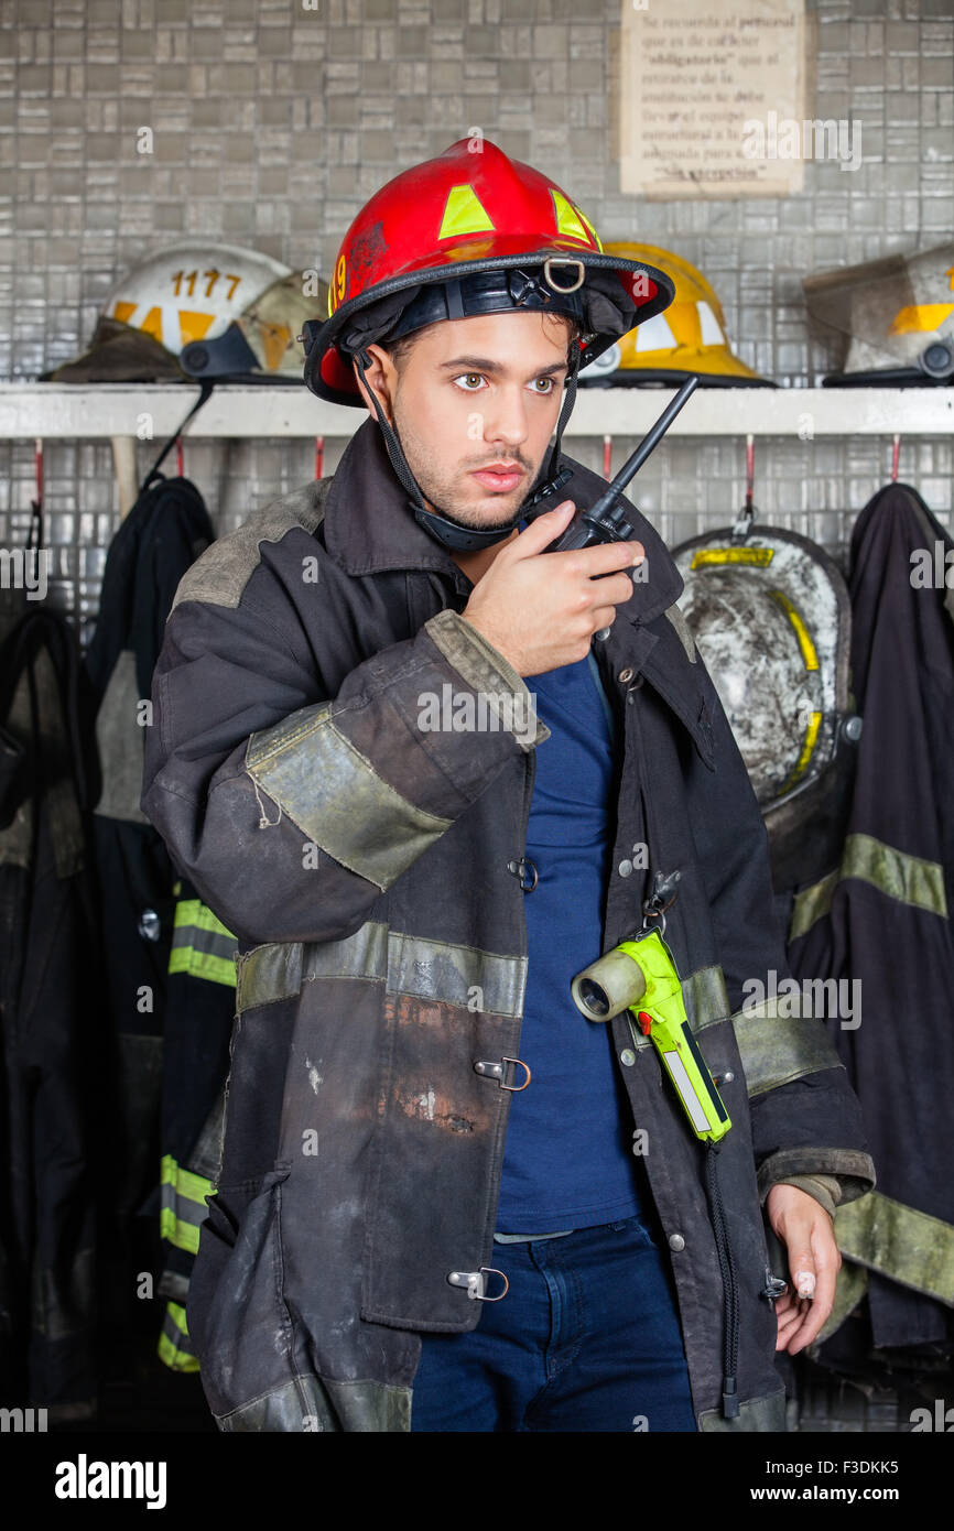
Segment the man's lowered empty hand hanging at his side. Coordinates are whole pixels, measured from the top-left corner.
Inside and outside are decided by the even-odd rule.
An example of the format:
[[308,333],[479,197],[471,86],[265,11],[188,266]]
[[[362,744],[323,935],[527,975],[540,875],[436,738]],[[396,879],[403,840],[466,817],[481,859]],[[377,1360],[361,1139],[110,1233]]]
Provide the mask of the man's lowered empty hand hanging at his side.
[[775,1349],[796,1355],[812,1344],[831,1312],[841,1252],[827,1211],[796,1185],[773,1185],[766,1197],[766,1211],[786,1246],[792,1285],[775,1303]]

